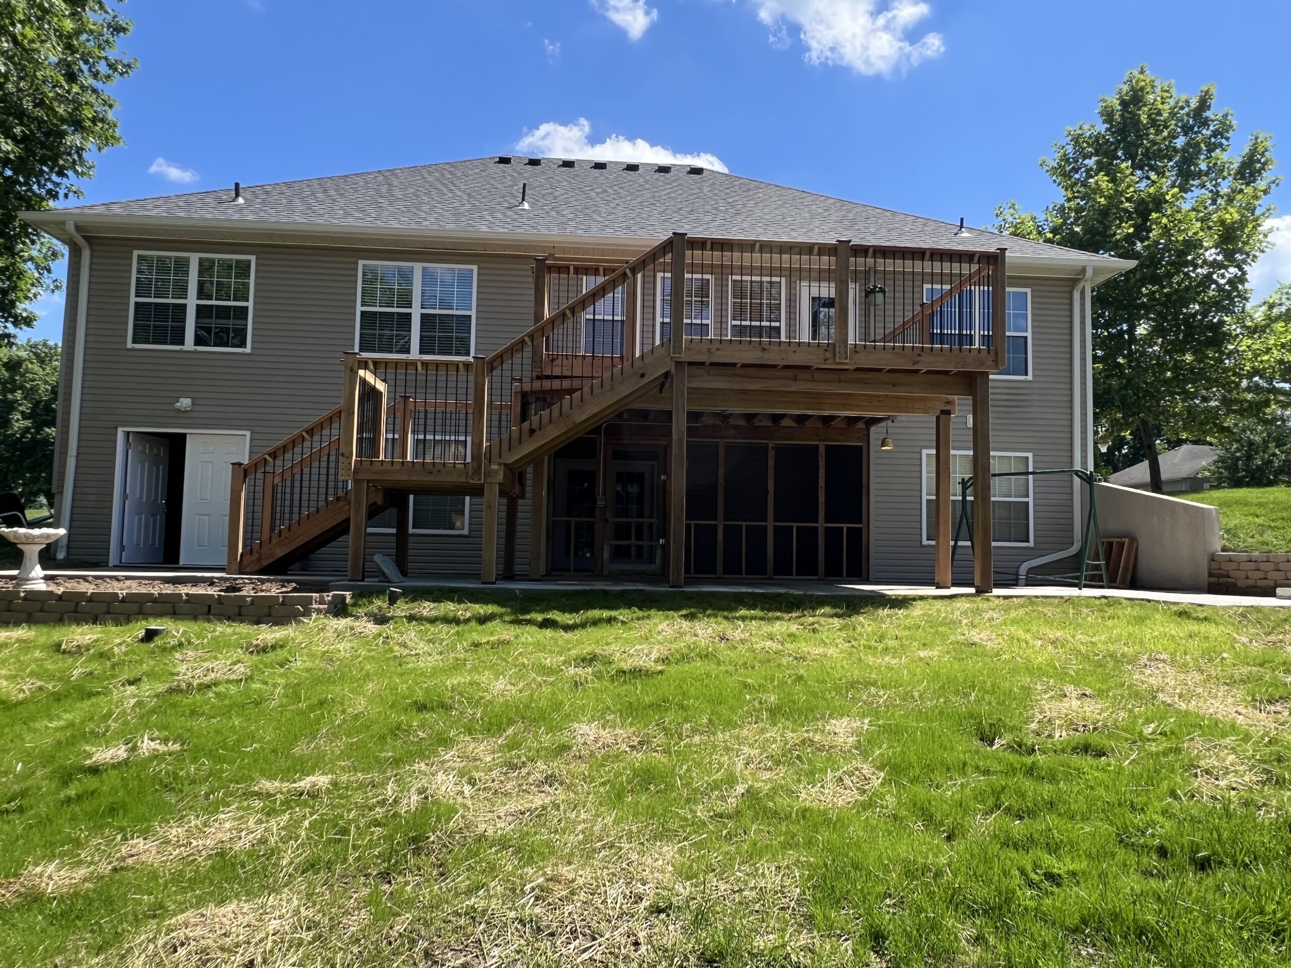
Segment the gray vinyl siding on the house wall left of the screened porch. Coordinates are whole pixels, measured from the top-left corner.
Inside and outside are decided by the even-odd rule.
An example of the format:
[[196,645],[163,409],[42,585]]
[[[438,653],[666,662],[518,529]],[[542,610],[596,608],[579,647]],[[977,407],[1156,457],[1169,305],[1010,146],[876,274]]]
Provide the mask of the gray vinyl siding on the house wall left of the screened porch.
[[[152,239],[89,241],[93,257],[81,431],[68,533],[68,555],[89,561],[108,560],[119,427],[250,431],[254,456],[340,404],[342,355],[354,350],[360,261],[478,266],[476,354],[500,348],[533,321],[532,261],[524,257],[212,241],[173,244]],[[252,351],[128,348],[136,250],[256,256]],[[70,287],[71,314],[74,302],[75,288]],[[66,386],[72,346],[66,330],[65,339]],[[187,413],[174,408],[181,396],[192,399]],[[70,399],[70,394],[65,392],[63,399]],[[66,422],[63,413],[62,439]],[[412,570],[479,572],[482,502],[471,505],[470,534],[413,534]],[[522,510],[519,538],[518,568],[524,569],[528,507]],[[369,547],[390,554],[394,538],[373,534]],[[345,555],[342,539],[306,568],[343,570]]]

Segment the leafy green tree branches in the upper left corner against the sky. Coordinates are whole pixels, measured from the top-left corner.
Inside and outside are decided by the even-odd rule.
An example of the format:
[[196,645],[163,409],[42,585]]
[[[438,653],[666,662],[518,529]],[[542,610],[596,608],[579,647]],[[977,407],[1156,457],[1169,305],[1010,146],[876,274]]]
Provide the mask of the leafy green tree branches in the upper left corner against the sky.
[[93,151],[121,143],[107,85],[134,70],[117,57],[130,30],[115,0],[0,0],[0,342],[31,327],[27,308],[59,281],[61,249],[18,219],[80,197]]

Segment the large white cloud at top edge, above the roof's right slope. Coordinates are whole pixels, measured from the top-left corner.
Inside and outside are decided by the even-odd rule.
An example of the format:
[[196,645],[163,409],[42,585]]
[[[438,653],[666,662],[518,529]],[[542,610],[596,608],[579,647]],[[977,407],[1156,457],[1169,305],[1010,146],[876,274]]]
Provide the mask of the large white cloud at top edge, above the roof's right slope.
[[919,0],[893,0],[878,10],[879,0],[751,0],[758,19],[771,30],[773,44],[789,43],[789,23],[799,28],[808,63],[843,65],[857,74],[904,72],[937,57],[945,44],[940,34],[915,43],[906,34],[928,15]]

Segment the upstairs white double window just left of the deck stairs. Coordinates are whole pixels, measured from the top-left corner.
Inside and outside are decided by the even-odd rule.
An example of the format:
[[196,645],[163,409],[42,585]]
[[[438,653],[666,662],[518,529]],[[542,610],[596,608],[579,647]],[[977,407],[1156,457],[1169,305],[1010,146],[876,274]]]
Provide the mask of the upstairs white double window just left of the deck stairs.
[[470,358],[475,266],[359,263],[359,352]]

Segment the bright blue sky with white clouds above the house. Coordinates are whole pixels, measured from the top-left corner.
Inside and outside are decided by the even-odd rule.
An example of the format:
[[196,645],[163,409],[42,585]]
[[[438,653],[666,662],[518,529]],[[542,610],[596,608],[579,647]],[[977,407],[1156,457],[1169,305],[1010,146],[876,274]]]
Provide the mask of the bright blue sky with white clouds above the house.
[[[125,147],[86,201],[505,151],[707,155],[811,191],[986,225],[1146,62],[1214,81],[1291,159],[1286,0],[130,0]],[[1259,39],[1264,39],[1263,44]],[[1264,46],[1264,53],[1252,49]],[[611,141],[615,136],[634,143]],[[522,147],[523,146],[523,147]],[[646,157],[644,160],[652,160]],[[1283,165],[1283,173],[1291,168]],[[1257,293],[1291,281],[1291,185]],[[34,336],[61,334],[62,294]]]

